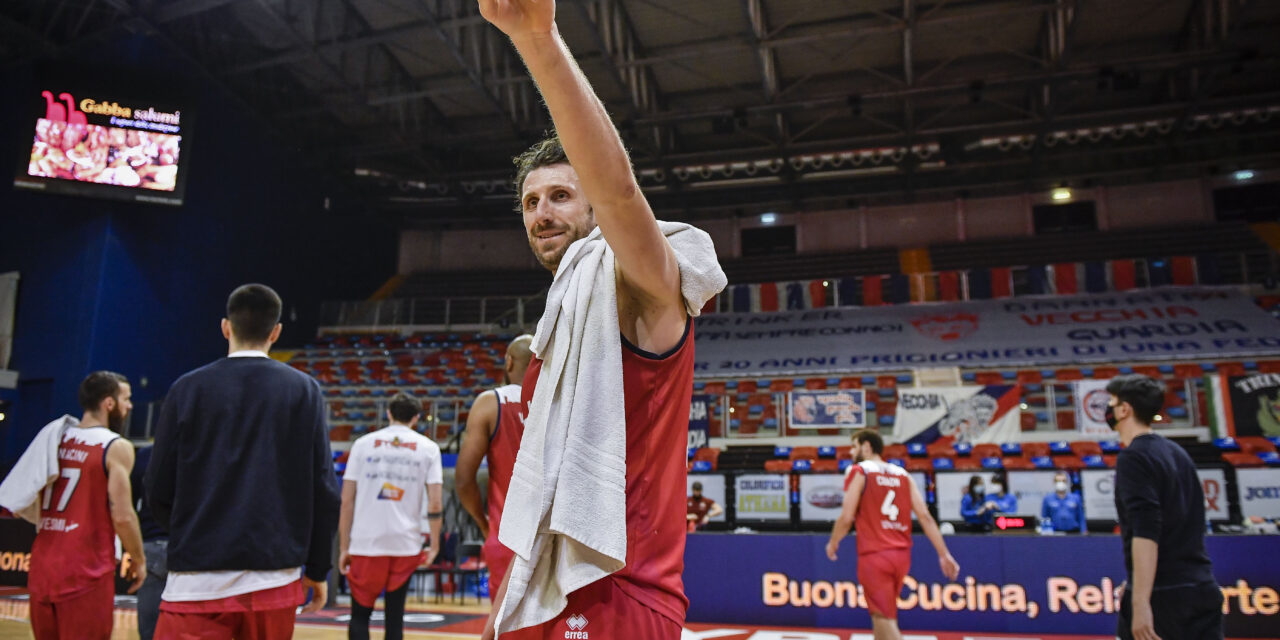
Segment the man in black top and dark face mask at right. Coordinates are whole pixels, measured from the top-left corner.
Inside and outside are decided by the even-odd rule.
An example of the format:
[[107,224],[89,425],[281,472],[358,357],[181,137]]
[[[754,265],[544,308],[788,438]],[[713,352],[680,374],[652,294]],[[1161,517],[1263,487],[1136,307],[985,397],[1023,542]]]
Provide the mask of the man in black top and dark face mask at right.
[[1204,550],[1204,492],[1187,451],[1151,422],[1165,385],[1144,375],[1107,384],[1116,458],[1116,512],[1129,573],[1116,635],[1123,640],[1222,637],[1222,593]]

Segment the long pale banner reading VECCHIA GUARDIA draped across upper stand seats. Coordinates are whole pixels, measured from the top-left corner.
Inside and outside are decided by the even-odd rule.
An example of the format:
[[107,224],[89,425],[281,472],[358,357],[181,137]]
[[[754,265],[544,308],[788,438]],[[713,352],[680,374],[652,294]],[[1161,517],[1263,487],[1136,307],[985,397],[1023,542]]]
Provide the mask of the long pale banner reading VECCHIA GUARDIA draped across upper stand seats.
[[1231,288],[699,316],[699,375],[800,375],[1280,353]]

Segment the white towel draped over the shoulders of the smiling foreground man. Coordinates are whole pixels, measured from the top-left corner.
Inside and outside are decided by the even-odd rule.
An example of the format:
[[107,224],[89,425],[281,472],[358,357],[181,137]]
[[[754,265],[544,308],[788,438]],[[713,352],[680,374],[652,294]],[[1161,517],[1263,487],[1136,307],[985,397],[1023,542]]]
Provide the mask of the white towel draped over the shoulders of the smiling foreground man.
[[[710,236],[658,223],[690,316],[724,288]],[[613,250],[596,228],[564,252],[538,321],[543,360],[498,539],[516,552],[498,634],[540,625],[626,564],[626,416]]]

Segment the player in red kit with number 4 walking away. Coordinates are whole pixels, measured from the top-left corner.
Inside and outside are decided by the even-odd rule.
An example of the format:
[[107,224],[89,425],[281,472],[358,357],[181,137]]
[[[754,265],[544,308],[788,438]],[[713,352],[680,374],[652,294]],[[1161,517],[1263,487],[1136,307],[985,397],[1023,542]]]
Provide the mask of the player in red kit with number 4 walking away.
[[938,552],[938,566],[947,580],[960,575],[960,564],[947,550],[938,524],[929,515],[924,497],[902,467],[881,460],[884,440],[863,429],[854,434],[854,462],[845,476],[845,504],[831,529],[827,557],[836,561],[840,540],[858,524],[858,581],[867,596],[876,640],[901,640],[897,628],[897,596],[911,567],[911,513]]

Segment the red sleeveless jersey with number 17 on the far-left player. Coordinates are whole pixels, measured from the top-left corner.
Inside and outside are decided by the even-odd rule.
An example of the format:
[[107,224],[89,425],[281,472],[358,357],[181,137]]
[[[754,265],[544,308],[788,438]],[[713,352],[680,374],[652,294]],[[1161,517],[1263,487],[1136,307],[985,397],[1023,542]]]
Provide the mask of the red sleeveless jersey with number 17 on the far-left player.
[[106,495],[111,430],[70,428],[58,447],[60,475],[45,488],[27,588],[37,602],[76,598],[115,571],[115,527]]

